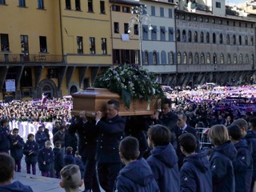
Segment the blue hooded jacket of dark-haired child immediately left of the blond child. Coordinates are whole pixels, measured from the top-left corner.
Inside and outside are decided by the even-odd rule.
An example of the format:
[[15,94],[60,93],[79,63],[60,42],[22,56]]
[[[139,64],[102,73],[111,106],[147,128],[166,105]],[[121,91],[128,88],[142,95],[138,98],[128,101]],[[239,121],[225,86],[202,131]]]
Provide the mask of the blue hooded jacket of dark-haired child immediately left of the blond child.
[[181,192],[204,192],[213,189],[210,162],[206,153],[186,157],[180,174]]

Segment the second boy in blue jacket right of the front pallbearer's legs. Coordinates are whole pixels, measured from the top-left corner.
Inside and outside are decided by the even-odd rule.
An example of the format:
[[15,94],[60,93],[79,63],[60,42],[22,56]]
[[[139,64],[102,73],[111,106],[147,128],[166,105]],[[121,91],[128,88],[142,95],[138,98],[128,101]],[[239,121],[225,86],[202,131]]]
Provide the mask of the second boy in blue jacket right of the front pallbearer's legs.
[[157,124],[150,126],[147,135],[148,144],[153,150],[151,150],[151,155],[146,159],[146,162],[151,167],[159,190],[165,192],[179,191],[178,157],[170,143],[170,130],[166,126]]

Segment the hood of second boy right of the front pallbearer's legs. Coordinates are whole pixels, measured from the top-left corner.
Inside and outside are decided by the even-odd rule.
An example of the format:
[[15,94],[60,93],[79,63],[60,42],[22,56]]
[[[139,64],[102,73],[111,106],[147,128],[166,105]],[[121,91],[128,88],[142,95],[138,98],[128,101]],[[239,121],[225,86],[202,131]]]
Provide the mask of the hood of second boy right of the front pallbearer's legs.
[[178,162],[177,154],[170,143],[167,146],[156,146],[154,150],[151,151],[151,154],[154,158],[158,158],[159,161],[169,167],[174,167]]

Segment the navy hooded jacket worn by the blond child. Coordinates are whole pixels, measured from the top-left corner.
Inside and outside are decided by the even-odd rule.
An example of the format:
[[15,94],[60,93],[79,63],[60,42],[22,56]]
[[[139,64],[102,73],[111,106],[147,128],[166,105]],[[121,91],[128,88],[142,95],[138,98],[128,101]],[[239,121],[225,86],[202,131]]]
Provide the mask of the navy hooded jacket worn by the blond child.
[[213,149],[210,156],[210,169],[214,192],[234,192],[234,170],[232,161],[238,152],[232,142],[226,142]]

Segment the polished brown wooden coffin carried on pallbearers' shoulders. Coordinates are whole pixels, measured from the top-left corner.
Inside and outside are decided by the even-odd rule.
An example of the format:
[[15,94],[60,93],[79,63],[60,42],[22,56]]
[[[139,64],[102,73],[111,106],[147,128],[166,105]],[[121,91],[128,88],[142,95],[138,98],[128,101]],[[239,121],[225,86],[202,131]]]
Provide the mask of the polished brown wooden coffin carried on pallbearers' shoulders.
[[130,109],[122,102],[122,98],[110,90],[104,88],[87,88],[86,90],[72,94],[73,111],[72,114],[78,115],[80,111],[86,110],[87,117],[94,117],[95,112],[100,110],[104,116],[106,102],[110,99],[118,100],[120,103],[119,115],[146,115],[154,114],[160,107],[160,100],[154,99],[150,103],[142,99],[132,99]]

